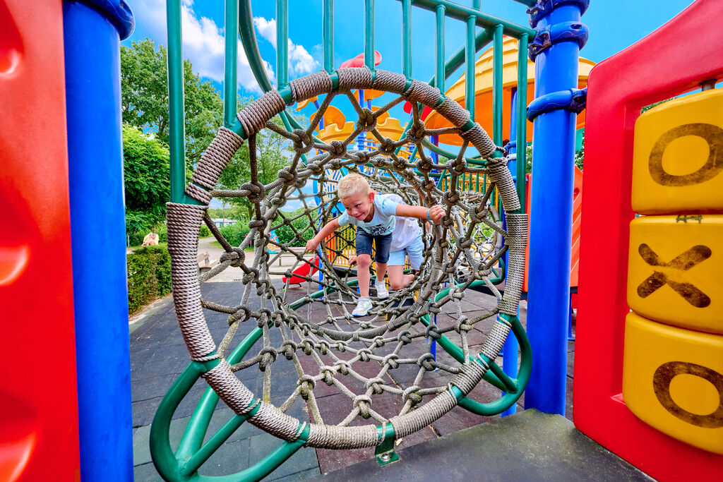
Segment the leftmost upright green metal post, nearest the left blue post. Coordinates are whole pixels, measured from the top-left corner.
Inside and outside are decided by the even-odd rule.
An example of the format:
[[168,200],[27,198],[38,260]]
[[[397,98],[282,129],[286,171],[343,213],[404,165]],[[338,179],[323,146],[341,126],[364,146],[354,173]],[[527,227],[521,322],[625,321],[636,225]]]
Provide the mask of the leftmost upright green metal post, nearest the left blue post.
[[183,202],[186,188],[186,134],[184,132],[183,50],[181,0],[166,2],[168,18],[168,150],[171,153],[171,202]]

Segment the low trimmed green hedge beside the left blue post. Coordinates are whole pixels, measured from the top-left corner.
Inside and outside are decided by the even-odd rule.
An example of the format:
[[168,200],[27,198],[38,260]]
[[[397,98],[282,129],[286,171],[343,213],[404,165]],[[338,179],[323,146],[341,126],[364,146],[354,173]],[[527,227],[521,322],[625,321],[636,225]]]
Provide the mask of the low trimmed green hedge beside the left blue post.
[[171,293],[171,256],[166,246],[144,246],[127,257],[128,313]]

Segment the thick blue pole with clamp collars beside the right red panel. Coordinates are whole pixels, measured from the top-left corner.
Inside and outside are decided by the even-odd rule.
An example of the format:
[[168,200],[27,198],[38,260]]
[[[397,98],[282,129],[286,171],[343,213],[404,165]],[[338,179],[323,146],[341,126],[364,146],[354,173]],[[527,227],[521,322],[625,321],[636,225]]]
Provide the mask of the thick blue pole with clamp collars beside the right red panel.
[[[580,22],[579,3],[551,9],[537,30]],[[535,97],[574,89],[580,46],[557,40],[535,61]],[[565,414],[570,310],[570,243],[573,219],[573,154],[576,114],[558,109],[534,122],[532,158],[529,296],[527,333],[535,356],[525,392],[525,408]]]

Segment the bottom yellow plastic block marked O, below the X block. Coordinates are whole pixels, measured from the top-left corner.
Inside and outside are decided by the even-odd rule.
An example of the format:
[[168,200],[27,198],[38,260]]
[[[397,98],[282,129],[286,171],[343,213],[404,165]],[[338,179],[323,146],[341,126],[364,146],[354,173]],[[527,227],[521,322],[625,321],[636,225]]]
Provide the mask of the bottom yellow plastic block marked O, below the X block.
[[723,336],[628,314],[623,400],[655,429],[723,454]]

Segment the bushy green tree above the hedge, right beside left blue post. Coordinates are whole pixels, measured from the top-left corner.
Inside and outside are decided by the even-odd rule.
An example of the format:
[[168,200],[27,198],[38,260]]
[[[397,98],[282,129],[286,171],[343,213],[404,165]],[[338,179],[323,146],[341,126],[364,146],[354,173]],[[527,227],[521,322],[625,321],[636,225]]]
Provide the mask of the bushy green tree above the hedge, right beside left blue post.
[[126,229],[145,231],[166,218],[171,189],[168,147],[133,126],[123,125]]

